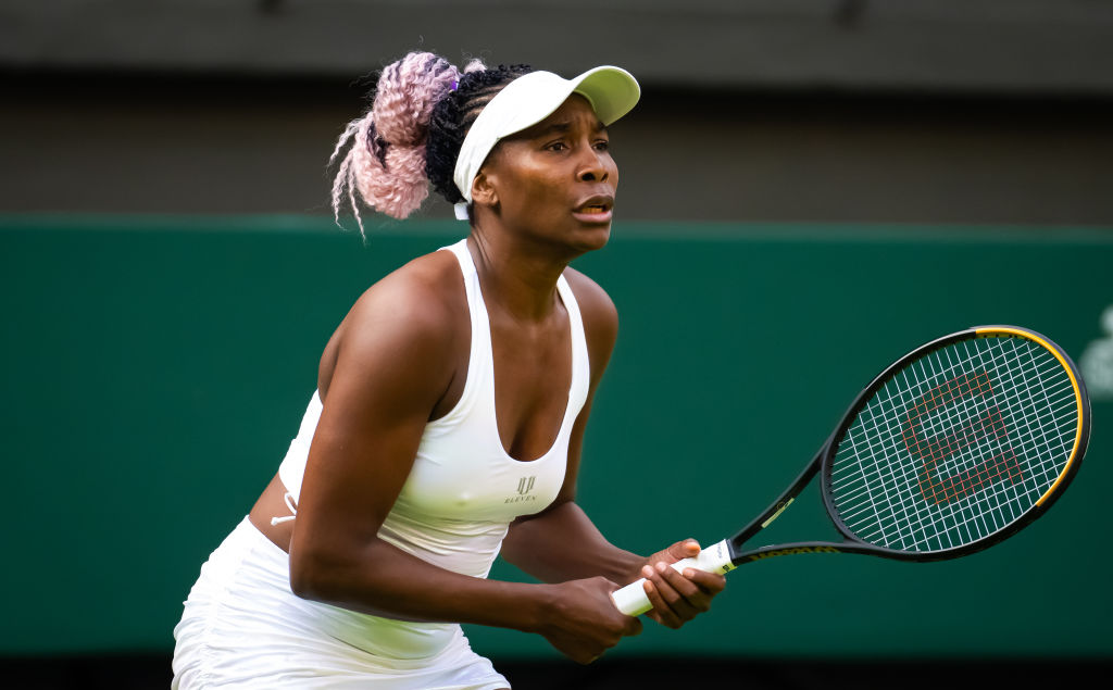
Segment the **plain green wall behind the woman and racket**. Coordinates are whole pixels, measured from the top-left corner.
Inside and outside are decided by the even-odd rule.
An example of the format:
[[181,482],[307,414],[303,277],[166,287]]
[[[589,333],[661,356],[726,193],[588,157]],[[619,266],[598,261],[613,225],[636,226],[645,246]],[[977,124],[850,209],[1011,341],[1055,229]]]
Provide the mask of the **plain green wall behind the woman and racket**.
[[[296,433],[332,329],[367,285],[459,233],[382,225],[364,247],[311,217],[0,216],[0,654],[168,651],[200,563]],[[1113,234],[1096,230],[619,223],[575,265],[621,318],[581,503],[642,552],[716,541],[765,507],[923,341],[1008,323],[1077,359],[1109,337],[1113,304]],[[1113,657],[1111,412],[1094,401],[1077,481],[999,546],[756,563],[710,615],[647,625],[617,653]],[[828,534],[809,492],[768,536]],[[555,654],[471,635],[492,657]]]

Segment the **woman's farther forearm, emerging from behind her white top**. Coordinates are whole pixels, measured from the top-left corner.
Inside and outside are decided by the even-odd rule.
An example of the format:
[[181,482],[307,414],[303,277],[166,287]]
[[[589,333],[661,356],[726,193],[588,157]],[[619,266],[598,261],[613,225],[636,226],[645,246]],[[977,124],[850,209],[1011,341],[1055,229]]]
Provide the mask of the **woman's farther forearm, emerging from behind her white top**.
[[502,556],[542,582],[602,575],[617,584],[637,580],[644,556],[611,544],[587,513],[569,501],[511,524]]

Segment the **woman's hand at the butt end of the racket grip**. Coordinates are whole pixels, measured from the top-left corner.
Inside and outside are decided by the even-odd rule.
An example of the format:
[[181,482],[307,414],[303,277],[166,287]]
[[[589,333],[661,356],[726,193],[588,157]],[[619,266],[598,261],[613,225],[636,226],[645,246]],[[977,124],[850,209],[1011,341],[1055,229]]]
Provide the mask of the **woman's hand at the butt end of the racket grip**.
[[641,632],[641,621],[619,612],[607,578],[571,580],[551,588],[545,620],[538,632],[577,663],[591,663],[624,637]]

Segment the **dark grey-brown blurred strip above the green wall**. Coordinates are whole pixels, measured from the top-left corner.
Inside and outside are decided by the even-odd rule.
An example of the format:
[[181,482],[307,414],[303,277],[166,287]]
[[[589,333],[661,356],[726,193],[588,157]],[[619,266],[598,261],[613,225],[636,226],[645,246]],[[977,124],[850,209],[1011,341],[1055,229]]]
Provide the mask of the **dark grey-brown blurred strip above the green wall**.
[[620,220],[1113,226],[1107,2],[4,0],[0,18],[0,213],[327,214],[337,136],[420,49],[632,71]]

